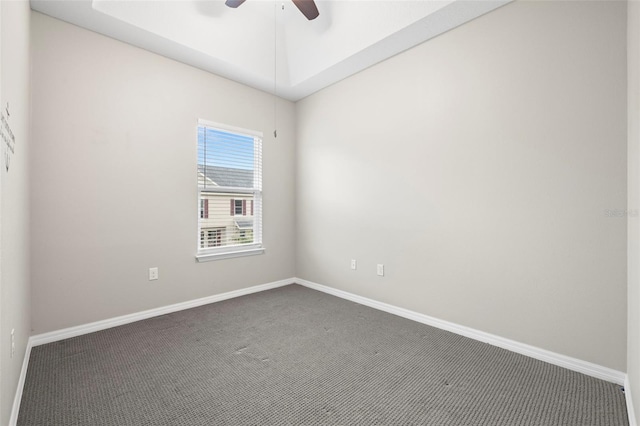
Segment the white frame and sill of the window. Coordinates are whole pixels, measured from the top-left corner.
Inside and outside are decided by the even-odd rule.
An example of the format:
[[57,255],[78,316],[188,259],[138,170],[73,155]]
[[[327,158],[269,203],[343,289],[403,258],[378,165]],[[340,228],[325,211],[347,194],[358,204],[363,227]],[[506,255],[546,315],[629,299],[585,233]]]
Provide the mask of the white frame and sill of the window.
[[[198,124],[196,126],[196,149],[199,148],[198,142],[198,130],[200,127],[205,128],[213,128],[215,130],[221,130],[228,133],[236,133],[242,136],[249,136],[254,138],[254,161],[259,162],[256,163],[256,167],[254,168],[254,172],[259,171],[259,176],[254,177],[254,185],[253,188],[231,188],[231,187],[216,187],[215,189],[207,187],[206,189],[198,184],[198,192],[197,192],[197,205],[198,205],[198,232],[196,234],[196,238],[198,240],[196,247],[196,260],[198,262],[207,262],[211,260],[219,260],[219,259],[228,259],[234,257],[242,257],[242,256],[253,256],[258,254],[263,254],[265,249],[262,244],[262,142],[263,142],[263,133],[255,130],[248,130],[239,127],[229,126],[226,124],[216,123],[213,121],[199,119]],[[197,161],[196,161],[197,164]],[[196,167],[197,168],[197,167]],[[237,195],[251,195],[251,203],[246,203],[246,208],[242,206],[241,214],[234,214],[232,217],[240,216],[245,217],[246,213],[249,211],[249,204],[251,205],[251,212],[253,213],[253,243],[249,244],[239,244],[239,245],[228,245],[228,246],[219,246],[219,247],[201,247],[202,239],[201,232],[206,231],[208,228],[202,228],[201,226],[201,195],[203,192],[207,193],[217,193],[217,194],[237,194]],[[210,206],[209,206],[210,207]],[[236,212],[236,208],[234,205],[234,213]],[[209,218],[211,218],[211,213],[209,213]]]

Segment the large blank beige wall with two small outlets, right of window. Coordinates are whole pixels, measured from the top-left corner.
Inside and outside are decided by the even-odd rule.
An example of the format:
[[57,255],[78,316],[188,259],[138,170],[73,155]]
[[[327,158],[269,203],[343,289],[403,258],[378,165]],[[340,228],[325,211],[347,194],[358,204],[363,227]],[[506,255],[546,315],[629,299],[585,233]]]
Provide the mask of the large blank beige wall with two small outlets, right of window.
[[516,2],[299,102],[298,276],[625,371],[625,46]]

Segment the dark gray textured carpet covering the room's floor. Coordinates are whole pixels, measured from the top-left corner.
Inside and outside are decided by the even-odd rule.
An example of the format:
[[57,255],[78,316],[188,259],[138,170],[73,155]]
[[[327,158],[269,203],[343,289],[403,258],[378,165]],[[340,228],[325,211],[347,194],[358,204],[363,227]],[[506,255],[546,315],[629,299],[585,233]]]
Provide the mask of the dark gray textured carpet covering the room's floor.
[[620,386],[291,285],[33,348],[19,426],[626,425]]

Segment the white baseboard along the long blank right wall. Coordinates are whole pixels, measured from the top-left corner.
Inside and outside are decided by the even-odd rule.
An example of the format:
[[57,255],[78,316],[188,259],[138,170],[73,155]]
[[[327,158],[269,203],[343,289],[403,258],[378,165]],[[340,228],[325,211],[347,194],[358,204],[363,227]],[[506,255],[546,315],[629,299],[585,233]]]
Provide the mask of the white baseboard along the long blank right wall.
[[459,334],[461,336],[469,337],[471,339],[488,343],[493,346],[498,346],[500,348],[507,349],[512,352],[526,355],[528,357],[535,358],[540,361],[548,362],[549,364],[564,367],[569,370],[586,374],[588,376],[606,380],[608,382],[613,382],[619,385],[623,385],[626,378],[626,374],[621,371],[613,370],[611,368],[603,367],[601,365],[593,364],[587,361],[582,361],[566,355],[561,355],[545,349],[540,349],[535,346],[530,346],[524,343],[516,342],[514,340],[505,339],[504,337],[496,336],[490,333],[485,333],[484,331],[475,330],[470,327],[465,327],[463,325],[458,325],[449,321],[444,321],[438,318],[430,317],[428,315],[420,314],[418,312],[410,311],[404,308],[399,308],[397,306],[389,305],[387,303],[378,302],[377,300],[368,299],[366,297],[358,296],[357,294],[348,293],[346,291],[338,290],[332,287],[327,287],[325,285],[317,284],[317,283],[303,280],[300,278],[296,278],[295,282],[305,287],[312,288],[314,290],[319,290],[324,293],[341,297],[343,299],[351,300],[352,302],[369,306],[371,308],[379,309],[381,311],[389,312],[391,314],[398,315],[400,317],[407,318],[413,321],[417,321],[422,324],[427,324],[432,327],[440,328],[442,330],[447,330],[452,333]]

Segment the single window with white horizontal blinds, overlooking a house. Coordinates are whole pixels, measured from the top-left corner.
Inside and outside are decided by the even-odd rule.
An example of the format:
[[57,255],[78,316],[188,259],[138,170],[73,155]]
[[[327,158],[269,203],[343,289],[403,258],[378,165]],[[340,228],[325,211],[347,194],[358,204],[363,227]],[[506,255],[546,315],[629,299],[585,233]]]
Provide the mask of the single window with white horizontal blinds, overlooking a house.
[[198,261],[260,254],[262,134],[198,122]]

